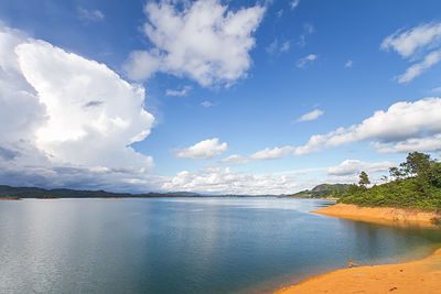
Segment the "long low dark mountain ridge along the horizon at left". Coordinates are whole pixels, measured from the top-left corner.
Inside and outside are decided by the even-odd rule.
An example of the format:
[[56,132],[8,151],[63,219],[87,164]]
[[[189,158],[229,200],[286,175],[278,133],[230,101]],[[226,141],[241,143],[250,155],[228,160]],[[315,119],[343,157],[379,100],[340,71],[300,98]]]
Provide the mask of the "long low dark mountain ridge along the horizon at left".
[[11,187],[0,185],[0,198],[129,198],[129,197],[202,197],[196,193],[111,193],[106,190],[79,190],[79,189],[44,189],[37,187]]

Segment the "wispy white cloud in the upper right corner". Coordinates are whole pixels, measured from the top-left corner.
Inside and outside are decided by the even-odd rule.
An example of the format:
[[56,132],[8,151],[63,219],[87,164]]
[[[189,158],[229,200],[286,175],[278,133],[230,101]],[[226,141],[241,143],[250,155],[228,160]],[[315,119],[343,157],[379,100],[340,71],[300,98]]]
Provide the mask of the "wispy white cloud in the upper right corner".
[[441,23],[428,23],[408,31],[399,30],[395,32],[383,41],[380,48],[392,48],[410,62],[422,59],[407,68],[405,74],[398,76],[398,83],[402,84],[411,81],[440,62],[440,45]]

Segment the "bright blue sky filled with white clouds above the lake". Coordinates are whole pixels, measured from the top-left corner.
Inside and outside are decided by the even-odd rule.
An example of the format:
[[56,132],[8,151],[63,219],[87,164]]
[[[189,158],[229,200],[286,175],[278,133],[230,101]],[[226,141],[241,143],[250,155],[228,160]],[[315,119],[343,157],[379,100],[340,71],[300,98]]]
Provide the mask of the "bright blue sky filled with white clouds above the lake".
[[292,194],[441,151],[441,2],[0,2],[0,184]]

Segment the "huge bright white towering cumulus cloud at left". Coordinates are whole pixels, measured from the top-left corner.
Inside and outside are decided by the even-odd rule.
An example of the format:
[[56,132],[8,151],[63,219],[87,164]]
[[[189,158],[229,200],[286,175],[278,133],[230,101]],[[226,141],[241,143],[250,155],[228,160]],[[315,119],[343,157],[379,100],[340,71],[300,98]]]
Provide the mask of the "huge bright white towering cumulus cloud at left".
[[36,146],[53,161],[152,165],[151,157],[127,146],[142,141],[153,123],[142,108],[142,87],[120,79],[103,64],[43,41],[20,44],[15,53],[23,76],[46,109],[47,121],[35,132]]

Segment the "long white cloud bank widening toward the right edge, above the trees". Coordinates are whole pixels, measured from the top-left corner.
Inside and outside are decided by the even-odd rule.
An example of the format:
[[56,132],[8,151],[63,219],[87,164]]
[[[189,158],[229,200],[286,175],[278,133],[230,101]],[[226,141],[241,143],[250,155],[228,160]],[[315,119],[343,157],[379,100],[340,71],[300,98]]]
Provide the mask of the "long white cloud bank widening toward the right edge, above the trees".
[[[412,151],[419,151],[417,148],[422,148],[422,145],[416,144],[416,139],[419,139],[418,142],[422,142],[421,138],[431,138],[441,133],[440,113],[440,98],[432,97],[415,102],[396,102],[387,111],[376,111],[359,124],[346,129],[338,128],[327,134],[312,135],[305,145],[295,148],[294,154],[302,155],[320,151],[323,148],[368,140],[374,141],[374,148],[378,148],[379,151],[386,150],[385,144],[388,144],[388,149],[390,149],[390,144],[397,148],[412,145],[412,148],[416,148]],[[378,145],[375,142],[381,144]],[[430,144],[424,143],[423,151],[429,151],[427,146],[430,146]]]

